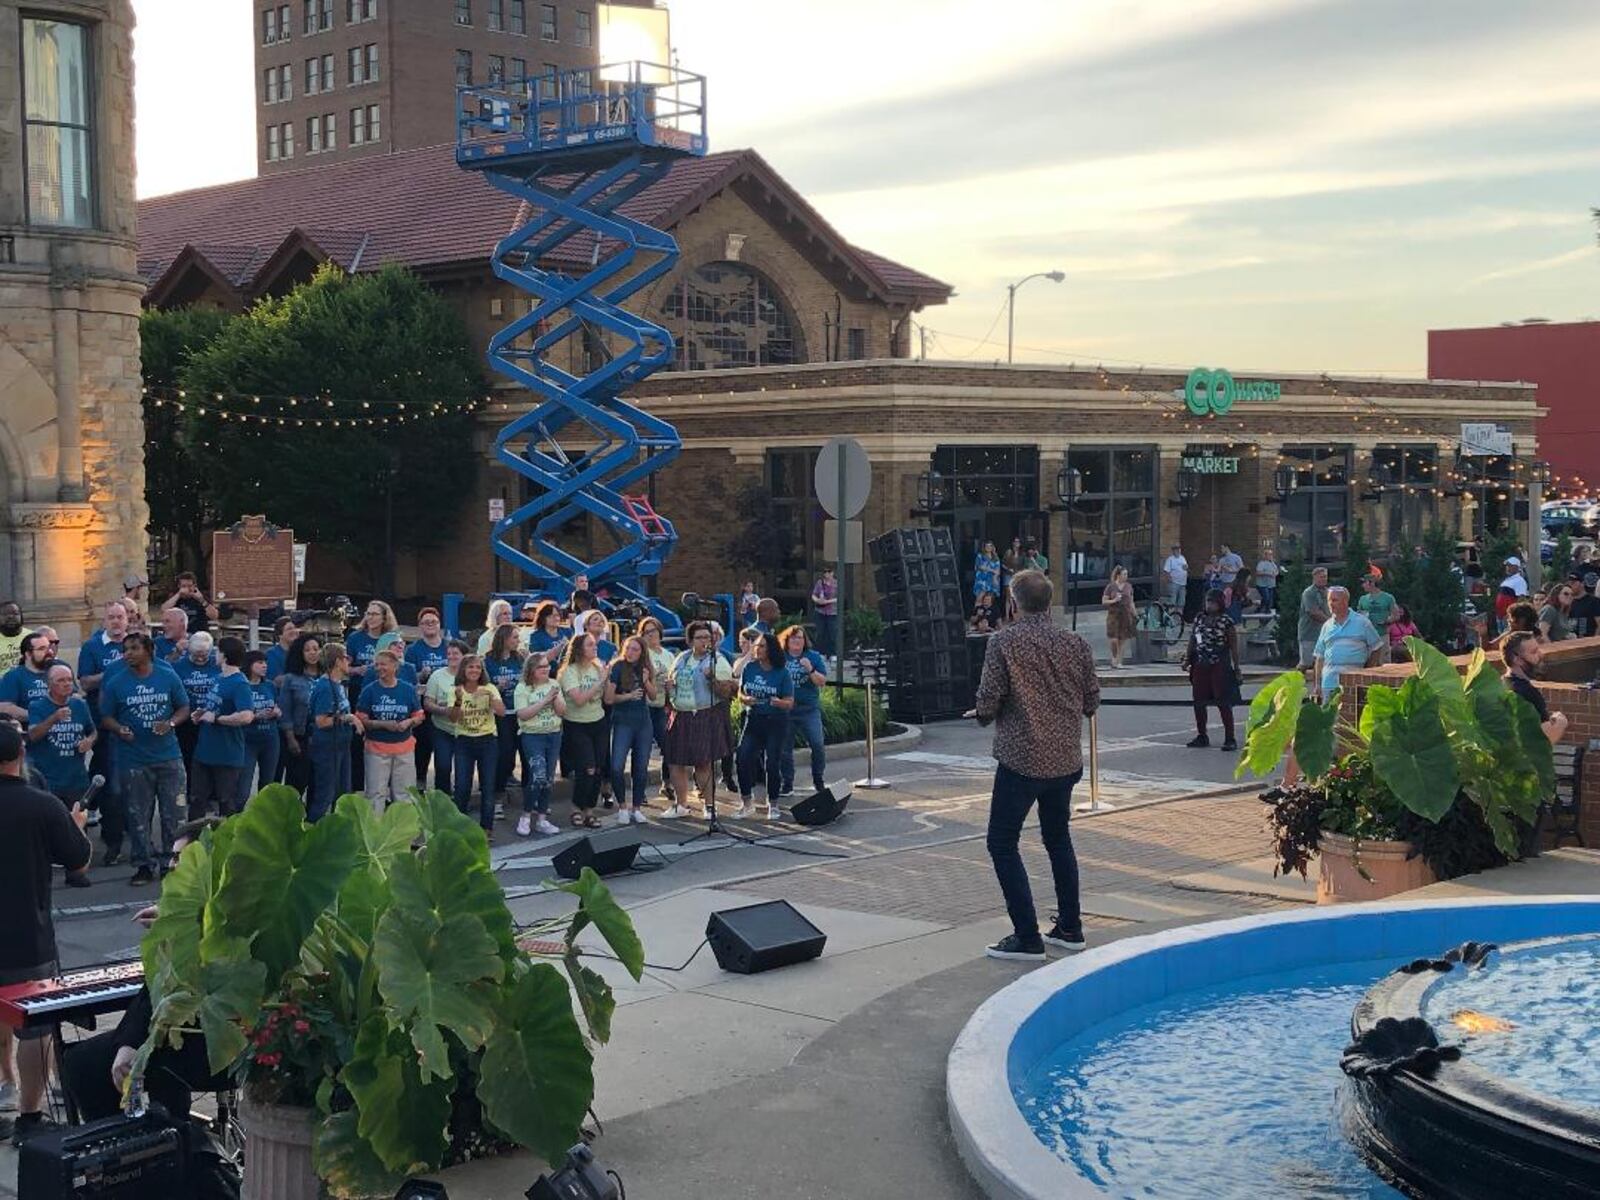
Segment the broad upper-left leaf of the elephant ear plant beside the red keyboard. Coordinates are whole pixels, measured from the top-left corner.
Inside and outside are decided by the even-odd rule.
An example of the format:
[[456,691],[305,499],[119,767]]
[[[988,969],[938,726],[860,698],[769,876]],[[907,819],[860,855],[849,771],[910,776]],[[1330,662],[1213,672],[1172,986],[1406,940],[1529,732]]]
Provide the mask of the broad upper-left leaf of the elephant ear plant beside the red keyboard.
[[355,827],[338,813],[307,826],[299,795],[280,786],[261,789],[234,822],[219,907],[227,931],[251,938],[267,979],[277,981],[349,875]]

